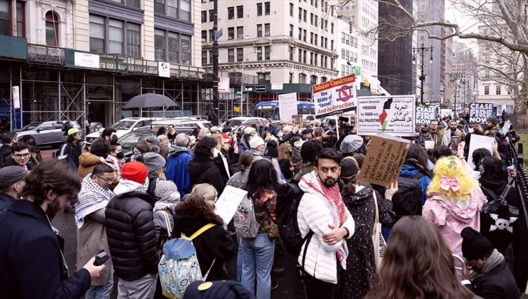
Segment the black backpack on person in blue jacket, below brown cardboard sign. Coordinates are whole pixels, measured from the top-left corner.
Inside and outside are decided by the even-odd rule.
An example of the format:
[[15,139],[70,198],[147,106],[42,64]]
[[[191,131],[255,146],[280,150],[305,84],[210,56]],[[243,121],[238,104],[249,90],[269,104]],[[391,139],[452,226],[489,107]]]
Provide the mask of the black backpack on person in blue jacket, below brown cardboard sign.
[[422,215],[422,184],[420,177],[425,174],[418,172],[415,177],[398,177],[398,191],[392,196],[392,211],[396,220],[406,215]]

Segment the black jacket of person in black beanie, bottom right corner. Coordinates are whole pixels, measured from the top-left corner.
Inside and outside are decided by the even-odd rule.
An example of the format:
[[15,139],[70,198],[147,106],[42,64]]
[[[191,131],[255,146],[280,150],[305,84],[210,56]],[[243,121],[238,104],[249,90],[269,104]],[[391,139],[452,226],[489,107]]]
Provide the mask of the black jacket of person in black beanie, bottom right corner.
[[471,283],[466,287],[484,299],[518,299],[521,297],[512,272],[509,271],[504,261],[487,275],[475,278]]

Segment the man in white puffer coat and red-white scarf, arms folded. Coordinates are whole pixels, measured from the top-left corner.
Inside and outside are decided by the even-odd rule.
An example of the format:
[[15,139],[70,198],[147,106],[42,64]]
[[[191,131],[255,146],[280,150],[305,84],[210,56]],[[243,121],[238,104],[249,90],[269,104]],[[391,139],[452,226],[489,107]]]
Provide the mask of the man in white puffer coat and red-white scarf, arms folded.
[[313,231],[298,258],[302,266],[305,256],[303,283],[308,298],[335,298],[338,267],[346,269],[348,250],[344,238],[354,234],[355,224],[337,185],[340,161],[336,150],[320,150],[315,170],[299,182],[305,192],[298,206],[299,230],[303,238]]

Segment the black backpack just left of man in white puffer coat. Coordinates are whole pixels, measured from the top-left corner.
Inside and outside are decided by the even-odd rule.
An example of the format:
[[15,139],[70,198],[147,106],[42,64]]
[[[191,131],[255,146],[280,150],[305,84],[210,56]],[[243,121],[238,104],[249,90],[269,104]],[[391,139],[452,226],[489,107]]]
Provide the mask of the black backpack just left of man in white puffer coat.
[[297,209],[303,195],[304,192],[298,184],[282,184],[277,192],[277,206],[275,207],[280,240],[283,241],[286,251],[295,256],[299,256],[300,248],[304,243],[297,223]]

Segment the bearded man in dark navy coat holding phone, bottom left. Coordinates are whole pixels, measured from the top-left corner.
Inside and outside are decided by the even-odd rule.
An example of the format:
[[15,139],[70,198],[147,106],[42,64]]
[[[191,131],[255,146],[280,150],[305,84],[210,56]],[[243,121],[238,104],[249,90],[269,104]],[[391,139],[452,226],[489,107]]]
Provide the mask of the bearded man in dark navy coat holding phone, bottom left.
[[91,258],[68,278],[62,249],[51,219],[81,189],[76,173],[64,162],[48,159],[26,177],[23,200],[0,215],[0,289],[3,298],[80,298],[104,266]]

